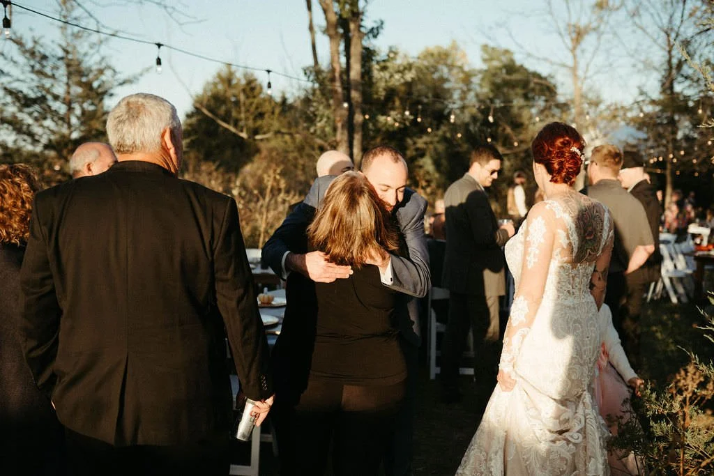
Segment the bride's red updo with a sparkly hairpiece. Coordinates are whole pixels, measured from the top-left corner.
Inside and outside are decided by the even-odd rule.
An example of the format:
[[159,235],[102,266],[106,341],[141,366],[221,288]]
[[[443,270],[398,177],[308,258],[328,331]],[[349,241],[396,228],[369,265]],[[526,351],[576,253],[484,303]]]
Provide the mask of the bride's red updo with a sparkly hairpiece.
[[531,143],[533,161],[545,166],[553,183],[573,185],[583,166],[585,140],[574,127],[551,122],[540,129]]

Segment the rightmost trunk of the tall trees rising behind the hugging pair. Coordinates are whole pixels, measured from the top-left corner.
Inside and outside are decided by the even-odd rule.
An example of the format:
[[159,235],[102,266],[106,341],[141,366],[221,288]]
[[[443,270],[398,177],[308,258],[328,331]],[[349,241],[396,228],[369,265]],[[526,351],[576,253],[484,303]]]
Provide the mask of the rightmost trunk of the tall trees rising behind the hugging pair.
[[352,103],[352,157],[355,167],[359,168],[362,160],[362,11],[354,9],[349,19],[350,26],[350,102]]

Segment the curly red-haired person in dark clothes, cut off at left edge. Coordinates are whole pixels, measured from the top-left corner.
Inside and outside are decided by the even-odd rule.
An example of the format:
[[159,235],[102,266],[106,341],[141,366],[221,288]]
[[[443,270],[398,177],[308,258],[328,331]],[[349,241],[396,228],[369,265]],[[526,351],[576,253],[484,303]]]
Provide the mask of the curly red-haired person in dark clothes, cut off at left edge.
[[0,475],[64,474],[63,430],[22,355],[20,265],[29,236],[36,173],[0,165]]

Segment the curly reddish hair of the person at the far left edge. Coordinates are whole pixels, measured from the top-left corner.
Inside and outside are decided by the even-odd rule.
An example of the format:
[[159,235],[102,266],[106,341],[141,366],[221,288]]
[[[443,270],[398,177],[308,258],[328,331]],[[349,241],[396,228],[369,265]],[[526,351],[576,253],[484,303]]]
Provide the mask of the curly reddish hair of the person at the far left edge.
[[27,243],[32,199],[39,190],[33,168],[23,163],[0,164],[0,243]]

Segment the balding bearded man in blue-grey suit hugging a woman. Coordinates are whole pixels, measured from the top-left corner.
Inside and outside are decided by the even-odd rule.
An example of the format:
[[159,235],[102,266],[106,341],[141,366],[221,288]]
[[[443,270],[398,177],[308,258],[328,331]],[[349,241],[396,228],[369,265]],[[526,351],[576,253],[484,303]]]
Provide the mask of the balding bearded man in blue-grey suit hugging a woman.
[[[397,309],[398,325],[401,330],[401,344],[408,367],[408,376],[406,397],[398,415],[397,434],[386,464],[388,475],[401,476],[411,474],[413,405],[416,393],[418,347],[421,343],[418,306],[416,300],[411,297],[423,297],[428,293],[431,285],[423,225],[427,203],[421,196],[406,187],[408,173],[406,162],[401,153],[394,148],[378,146],[364,153],[361,171],[391,211],[401,231],[403,248],[405,248],[404,255],[392,255],[385,251],[370,263],[380,268],[384,285],[401,293],[402,303]],[[333,176],[318,178],[305,201],[283,221],[263,246],[263,260],[276,274],[288,279],[288,308],[273,357],[282,359],[281,353],[288,354],[285,358],[291,360],[289,365],[298,365],[296,362],[301,362],[298,365],[301,368],[291,368],[288,375],[290,382],[286,384],[291,387],[288,392],[298,395],[304,390],[303,385],[306,383],[312,352],[311,339],[314,338],[314,322],[309,321],[309,315],[301,309],[313,305],[312,301],[304,298],[308,294],[306,288],[311,285],[311,281],[331,283],[336,279],[347,278],[351,273],[348,266],[330,263],[323,253],[308,252],[307,248],[307,226],[311,223],[318,203],[333,178]],[[297,290],[299,292],[293,292]],[[291,296],[295,298],[291,300]]]

